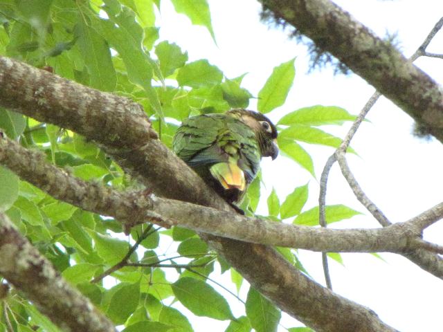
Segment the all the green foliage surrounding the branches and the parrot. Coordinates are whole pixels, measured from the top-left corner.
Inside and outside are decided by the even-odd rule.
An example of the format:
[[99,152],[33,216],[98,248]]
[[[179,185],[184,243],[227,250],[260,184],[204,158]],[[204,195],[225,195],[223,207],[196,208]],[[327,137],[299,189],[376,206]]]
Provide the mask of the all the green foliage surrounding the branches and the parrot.
[[[192,24],[204,26],[215,39],[206,0],[171,1],[178,13]],[[169,146],[177,124],[188,116],[246,108],[252,98],[258,99],[257,110],[262,113],[284,105],[295,78],[294,59],[275,66],[254,97],[242,86],[244,75],[228,78],[208,59],[189,62],[180,46],[159,40],[161,27],[156,26],[156,17],[160,9],[159,0],[1,1],[0,54],[135,100],[143,105],[161,140]],[[340,107],[315,105],[287,113],[278,121],[282,155],[315,177],[309,145],[338,147],[341,142],[319,127],[350,120],[354,116]],[[0,109],[0,128],[21,145],[39,149],[48,161],[73,176],[120,190],[138,185],[93,142],[77,133],[6,109]],[[174,306],[176,302],[195,315],[229,320],[226,331],[275,331],[278,326],[280,311],[253,288],[246,297],[246,315],[235,317],[225,299],[228,293],[217,291],[210,279],[219,266],[222,273],[230,271],[239,291],[242,276],[195,232],[179,227],[154,230],[141,241],[128,259],[128,263],[141,266],[125,266],[105,281],[91,283],[118,264],[150,226],[138,225],[124,237],[117,220],[57,201],[3,167],[0,184],[1,210],[64,278],[123,331],[192,331],[188,317]],[[255,213],[262,191],[257,178],[242,206],[249,214]],[[294,223],[318,225],[318,207],[305,208],[308,196],[309,187],[303,185],[280,203],[273,190],[267,198],[269,215],[265,217],[278,222],[295,217]],[[327,220],[341,221],[358,213],[344,205],[332,205],[327,207]],[[165,252],[168,246],[177,248],[176,252]],[[279,250],[304,270],[296,250]],[[8,321],[14,331],[58,331],[17,291],[11,291],[3,307],[6,316],[0,319],[1,329],[6,329]]]

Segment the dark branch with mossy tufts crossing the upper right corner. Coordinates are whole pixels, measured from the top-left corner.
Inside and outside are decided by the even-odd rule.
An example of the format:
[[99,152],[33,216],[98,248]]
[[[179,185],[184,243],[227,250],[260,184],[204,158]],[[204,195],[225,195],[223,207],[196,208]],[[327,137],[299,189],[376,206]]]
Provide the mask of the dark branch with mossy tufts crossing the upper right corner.
[[406,111],[443,142],[443,90],[390,42],[329,0],[259,0]]

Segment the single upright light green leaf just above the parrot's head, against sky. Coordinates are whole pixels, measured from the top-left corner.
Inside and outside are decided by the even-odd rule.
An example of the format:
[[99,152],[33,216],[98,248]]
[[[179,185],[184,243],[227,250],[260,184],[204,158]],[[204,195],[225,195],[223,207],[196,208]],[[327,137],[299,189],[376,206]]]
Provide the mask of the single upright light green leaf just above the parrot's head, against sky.
[[294,59],[274,68],[271,76],[258,93],[258,111],[268,113],[284,104],[296,75],[296,69],[293,66]]

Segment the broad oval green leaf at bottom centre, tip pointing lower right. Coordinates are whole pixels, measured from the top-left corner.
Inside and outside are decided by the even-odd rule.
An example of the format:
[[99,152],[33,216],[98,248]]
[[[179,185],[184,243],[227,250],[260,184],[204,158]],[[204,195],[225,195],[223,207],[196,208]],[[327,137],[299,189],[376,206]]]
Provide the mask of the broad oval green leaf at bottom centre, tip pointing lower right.
[[232,320],[229,304],[214,288],[197,279],[181,278],[172,284],[172,291],[183,306],[197,316],[216,320]]

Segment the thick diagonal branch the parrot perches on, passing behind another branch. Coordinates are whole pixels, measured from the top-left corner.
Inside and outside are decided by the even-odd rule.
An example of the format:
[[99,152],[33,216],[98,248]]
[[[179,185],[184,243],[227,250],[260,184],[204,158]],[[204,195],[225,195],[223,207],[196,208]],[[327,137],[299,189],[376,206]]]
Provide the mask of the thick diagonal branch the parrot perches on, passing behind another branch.
[[[89,93],[94,98],[91,99]],[[112,100],[108,97],[109,94],[100,96],[99,91],[0,57],[1,106],[37,120],[64,126],[95,140],[120,165],[140,176],[141,181],[156,194],[219,210],[232,210],[185,163],[161,142],[152,139],[154,135],[138,107],[129,107],[129,113],[125,113],[122,109],[116,110],[118,105],[125,108],[127,101],[123,101],[124,98],[114,96]],[[71,103],[64,103],[63,100],[70,100]],[[89,113],[91,105],[84,106],[91,101],[93,113]],[[102,116],[96,112],[101,112]],[[126,115],[124,121],[121,121],[122,113]],[[116,122],[115,115],[118,116]],[[87,120],[64,119],[84,116],[87,116]],[[132,136],[132,130],[127,130],[133,124],[140,131],[137,130],[135,136]],[[104,127],[118,134],[109,135]],[[130,136],[129,140],[126,140],[126,134]],[[114,139],[104,137],[108,135]],[[368,309],[327,291],[302,275],[273,248],[208,234],[201,234],[201,237],[216,248],[253,287],[283,311],[314,327],[316,331],[394,331]]]

